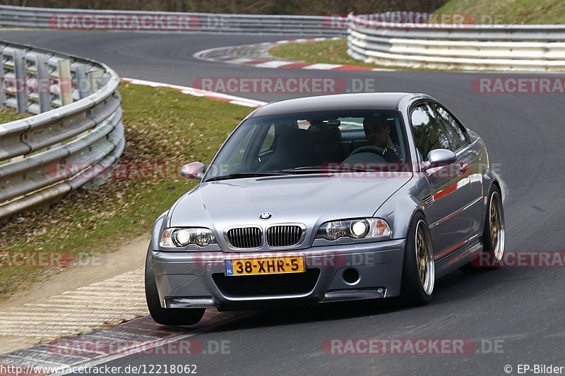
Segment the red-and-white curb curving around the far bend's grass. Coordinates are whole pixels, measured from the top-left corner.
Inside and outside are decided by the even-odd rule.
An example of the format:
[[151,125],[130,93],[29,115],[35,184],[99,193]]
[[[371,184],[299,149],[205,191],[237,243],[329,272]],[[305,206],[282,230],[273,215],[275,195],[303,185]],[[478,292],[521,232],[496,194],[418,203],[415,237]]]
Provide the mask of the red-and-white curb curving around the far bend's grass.
[[256,44],[244,44],[241,46],[228,46],[228,47],[218,47],[213,49],[205,49],[199,51],[193,56],[196,59],[215,61],[219,63],[230,63],[242,66],[252,66],[255,68],[277,68],[277,69],[315,69],[321,71],[394,71],[394,69],[388,68],[369,68],[364,66],[350,66],[343,64],[329,64],[329,63],[305,63],[303,61],[291,61],[291,60],[277,60],[273,59],[272,56],[266,56],[268,54],[262,54],[260,56],[264,57],[245,57],[239,56],[237,52],[241,49],[244,50],[259,50],[268,51],[271,47],[275,47],[280,44],[290,44],[290,43],[305,43],[305,42],[319,42],[323,40],[340,40],[340,37],[333,38],[307,38],[307,39],[297,39],[297,40],[279,40],[277,42],[264,42]]

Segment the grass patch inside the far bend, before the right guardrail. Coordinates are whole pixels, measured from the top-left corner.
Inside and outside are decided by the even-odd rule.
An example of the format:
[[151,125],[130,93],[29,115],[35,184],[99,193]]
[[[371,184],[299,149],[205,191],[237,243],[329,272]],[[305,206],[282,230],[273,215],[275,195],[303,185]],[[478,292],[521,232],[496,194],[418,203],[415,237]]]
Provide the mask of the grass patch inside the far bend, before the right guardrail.
[[319,42],[281,44],[269,50],[269,54],[281,59],[306,61],[307,63],[343,64],[376,68],[347,55],[347,40],[322,40]]

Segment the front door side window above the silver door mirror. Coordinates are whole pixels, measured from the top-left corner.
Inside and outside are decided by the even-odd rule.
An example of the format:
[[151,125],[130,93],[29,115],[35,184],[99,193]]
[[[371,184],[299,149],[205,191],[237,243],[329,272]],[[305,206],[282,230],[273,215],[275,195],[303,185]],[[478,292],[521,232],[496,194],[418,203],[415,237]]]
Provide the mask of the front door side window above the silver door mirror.
[[420,104],[412,109],[410,118],[416,147],[422,159],[427,159],[427,154],[434,149],[450,149],[446,134],[427,104]]

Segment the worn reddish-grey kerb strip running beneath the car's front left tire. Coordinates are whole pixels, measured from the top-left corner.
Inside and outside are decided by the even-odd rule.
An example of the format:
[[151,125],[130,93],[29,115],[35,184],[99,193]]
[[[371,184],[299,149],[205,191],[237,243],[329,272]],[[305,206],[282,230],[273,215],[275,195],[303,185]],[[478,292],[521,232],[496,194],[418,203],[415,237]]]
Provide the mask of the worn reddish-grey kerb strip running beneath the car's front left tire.
[[[191,337],[246,315],[249,313],[207,310],[201,322],[192,327],[163,327],[150,317],[143,317],[91,334],[53,340],[0,355],[0,375],[16,376],[16,372],[1,372],[2,369],[14,370],[16,367],[35,369],[35,372],[27,375],[65,375],[71,373],[72,368],[94,367],[135,353],[178,356],[204,354],[206,344]],[[21,375],[23,373],[18,376]]]

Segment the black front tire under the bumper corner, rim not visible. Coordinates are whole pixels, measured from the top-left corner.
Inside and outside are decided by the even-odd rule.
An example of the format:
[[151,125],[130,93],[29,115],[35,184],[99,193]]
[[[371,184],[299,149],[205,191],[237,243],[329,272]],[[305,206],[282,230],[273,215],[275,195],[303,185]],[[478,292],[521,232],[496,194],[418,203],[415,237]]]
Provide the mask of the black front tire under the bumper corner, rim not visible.
[[198,323],[206,308],[162,308],[153,274],[151,250],[145,259],[145,299],[153,320],[161,325],[194,325]]

